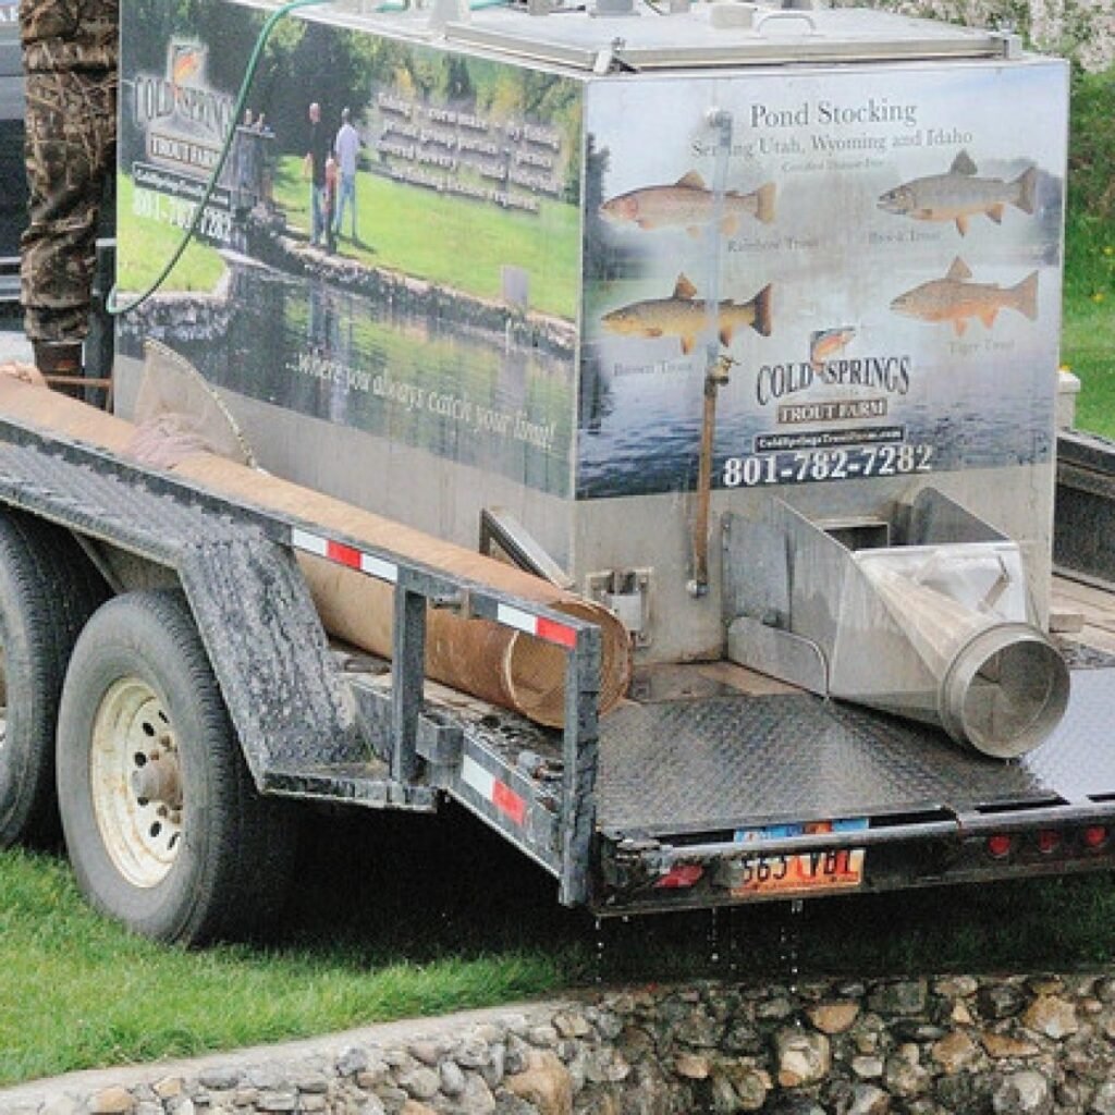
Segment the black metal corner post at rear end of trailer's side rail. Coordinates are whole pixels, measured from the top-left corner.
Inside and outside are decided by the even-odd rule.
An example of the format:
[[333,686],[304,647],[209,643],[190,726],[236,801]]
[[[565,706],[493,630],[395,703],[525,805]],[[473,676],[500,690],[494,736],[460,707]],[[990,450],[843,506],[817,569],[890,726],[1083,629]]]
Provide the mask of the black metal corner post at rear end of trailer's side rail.
[[592,836],[597,823],[597,704],[600,697],[600,629],[581,631],[565,659],[565,735],[561,799],[559,901],[589,900]]

